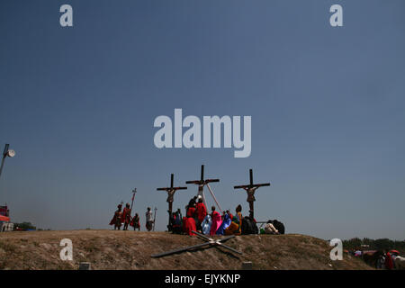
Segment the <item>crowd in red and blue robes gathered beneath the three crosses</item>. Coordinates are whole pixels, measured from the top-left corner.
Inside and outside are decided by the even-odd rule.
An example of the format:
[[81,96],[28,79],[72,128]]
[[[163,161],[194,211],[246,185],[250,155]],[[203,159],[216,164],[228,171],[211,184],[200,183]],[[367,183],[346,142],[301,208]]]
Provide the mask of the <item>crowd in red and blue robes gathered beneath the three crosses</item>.
[[173,233],[194,235],[198,231],[206,235],[240,235],[257,234],[256,220],[250,216],[242,217],[242,206],[238,205],[235,215],[227,210],[222,215],[216,211],[215,206],[211,207],[208,213],[201,196],[194,196],[185,206],[185,216],[180,209],[170,216],[168,229]]

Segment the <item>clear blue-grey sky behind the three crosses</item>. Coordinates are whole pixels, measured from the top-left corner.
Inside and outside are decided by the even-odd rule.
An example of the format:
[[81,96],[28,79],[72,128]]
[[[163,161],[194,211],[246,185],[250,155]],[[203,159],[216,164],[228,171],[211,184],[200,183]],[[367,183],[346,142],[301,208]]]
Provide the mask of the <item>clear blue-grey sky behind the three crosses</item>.
[[[61,4],[73,27],[59,25]],[[331,4],[344,26],[329,24]],[[0,202],[43,229],[144,228],[205,165],[222,208],[319,238],[405,238],[405,1],[128,0],[0,3]],[[159,115],[249,115],[252,153],[158,149]],[[175,195],[182,208],[197,188]],[[207,196],[209,204],[210,196]]]

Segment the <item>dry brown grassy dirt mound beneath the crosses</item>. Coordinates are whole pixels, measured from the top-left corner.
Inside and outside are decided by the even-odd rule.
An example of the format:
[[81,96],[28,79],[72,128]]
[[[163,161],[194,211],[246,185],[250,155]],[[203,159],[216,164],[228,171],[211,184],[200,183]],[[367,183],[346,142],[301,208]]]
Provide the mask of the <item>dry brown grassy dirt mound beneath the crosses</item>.
[[[73,261],[60,260],[62,238],[73,243]],[[217,237],[220,238],[220,237]],[[66,230],[0,233],[0,269],[240,269],[251,261],[254,269],[371,269],[354,257],[331,261],[329,243],[299,234],[247,235],[226,244],[243,252],[238,256],[221,247],[205,247],[168,257],[152,254],[200,244],[197,237],[167,232]]]

